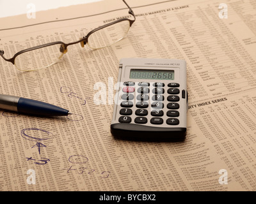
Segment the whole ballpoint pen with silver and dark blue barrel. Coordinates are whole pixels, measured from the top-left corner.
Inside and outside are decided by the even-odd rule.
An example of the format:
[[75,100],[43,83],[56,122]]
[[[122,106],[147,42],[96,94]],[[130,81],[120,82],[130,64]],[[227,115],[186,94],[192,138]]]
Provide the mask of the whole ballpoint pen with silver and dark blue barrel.
[[18,113],[42,116],[64,116],[72,114],[64,108],[49,103],[4,94],[0,94],[0,108]]

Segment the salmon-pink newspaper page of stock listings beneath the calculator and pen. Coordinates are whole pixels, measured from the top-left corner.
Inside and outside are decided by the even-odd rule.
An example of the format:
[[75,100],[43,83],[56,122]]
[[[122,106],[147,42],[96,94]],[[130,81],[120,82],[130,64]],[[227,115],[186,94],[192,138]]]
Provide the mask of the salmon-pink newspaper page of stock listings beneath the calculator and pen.
[[[111,47],[71,45],[58,63],[30,72],[0,59],[1,94],[73,113],[0,110],[0,190],[255,191],[256,2],[127,3],[136,21]],[[132,18],[121,0],[106,0],[0,18],[0,50],[10,58],[24,48],[70,43],[124,17]],[[111,136],[118,64],[126,57],[186,60],[184,142]]]

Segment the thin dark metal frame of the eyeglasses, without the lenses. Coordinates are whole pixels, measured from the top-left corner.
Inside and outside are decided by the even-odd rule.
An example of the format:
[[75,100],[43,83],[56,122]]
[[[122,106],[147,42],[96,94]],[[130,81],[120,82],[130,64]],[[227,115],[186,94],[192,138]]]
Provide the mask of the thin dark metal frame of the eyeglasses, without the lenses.
[[[86,45],[86,43],[88,43],[88,38],[89,38],[89,36],[90,36],[91,34],[95,33],[96,31],[99,31],[100,29],[104,29],[105,27],[108,27],[108,26],[110,26],[110,25],[117,24],[117,23],[122,22],[122,21],[125,21],[125,20],[128,20],[128,21],[129,21],[129,24],[130,24],[130,27],[131,27],[132,24],[135,22],[136,17],[135,17],[135,15],[134,15],[134,12],[132,11],[131,7],[125,2],[125,0],[122,0],[122,1],[124,1],[124,3],[126,4],[126,6],[129,8],[128,13],[131,14],[131,15],[134,17],[134,20],[131,20],[131,19],[129,19],[129,18],[121,18],[121,19],[115,20],[115,21],[113,21],[113,22],[110,22],[110,23],[108,23],[108,24],[101,25],[101,26],[99,26],[99,27],[93,29],[92,31],[90,31],[90,32],[89,32],[88,34],[86,34],[86,36],[84,36],[83,38],[80,38],[80,40],[74,41],[74,42],[72,42],[72,43],[64,43],[63,41],[55,41],[55,42],[52,42],[52,43],[45,43],[45,44],[43,44],[43,45],[37,45],[37,46],[35,46],[35,47],[31,47],[31,48],[26,48],[26,49],[24,49],[24,50],[20,50],[20,51],[17,52],[15,55],[13,55],[13,57],[10,58],[10,59],[6,59],[6,58],[4,57],[4,50],[0,50],[0,55],[1,55],[1,57],[3,57],[3,59],[4,59],[5,61],[12,62],[12,64],[15,65],[15,58],[16,58],[18,55],[23,54],[24,52],[29,52],[29,51],[37,50],[37,49],[39,49],[39,48],[49,47],[49,46],[51,46],[51,45],[58,45],[58,44],[61,45],[61,47],[60,47],[60,52],[61,52],[62,55],[63,55],[63,54],[66,54],[66,53],[67,53],[67,51],[68,51],[68,50],[67,50],[67,47],[68,47],[69,45],[74,45],[74,44],[80,43],[80,44],[81,44],[81,47],[84,47],[84,45]],[[122,39],[121,39],[121,40],[122,40]],[[116,42],[117,42],[117,41],[116,41]],[[103,48],[103,47],[102,47],[102,48]],[[62,57],[62,55],[61,55],[61,57]],[[60,57],[60,58],[61,58],[61,57]]]

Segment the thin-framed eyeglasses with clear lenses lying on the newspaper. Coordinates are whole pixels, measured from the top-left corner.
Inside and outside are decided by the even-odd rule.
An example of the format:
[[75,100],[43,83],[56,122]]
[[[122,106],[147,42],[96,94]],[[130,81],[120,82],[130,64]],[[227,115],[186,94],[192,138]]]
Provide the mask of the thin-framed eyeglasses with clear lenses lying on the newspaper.
[[81,47],[84,47],[84,45],[87,44],[92,49],[108,47],[109,45],[122,40],[136,19],[132,9],[125,1],[124,3],[129,8],[128,13],[134,17],[134,20],[122,18],[109,24],[102,25],[93,29],[85,37],[80,38],[80,40],[73,43],[56,41],[46,43],[44,45],[38,45],[36,47],[27,48],[17,52],[10,59],[6,59],[4,57],[3,50],[0,50],[0,55],[5,61],[12,62],[12,64],[21,71],[34,71],[37,69],[47,68],[58,62],[61,57],[67,53],[67,47],[69,45],[80,43]]

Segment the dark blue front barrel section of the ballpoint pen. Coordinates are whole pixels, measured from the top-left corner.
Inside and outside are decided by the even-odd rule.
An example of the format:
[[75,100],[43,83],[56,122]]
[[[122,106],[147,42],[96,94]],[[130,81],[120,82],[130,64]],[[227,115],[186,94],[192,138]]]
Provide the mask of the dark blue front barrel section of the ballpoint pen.
[[32,99],[20,98],[17,105],[17,110],[20,113],[28,113],[33,115],[44,116],[62,116],[68,115],[68,110],[58,106],[44,103],[42,101],[35,101]]

